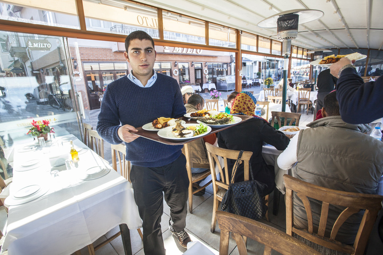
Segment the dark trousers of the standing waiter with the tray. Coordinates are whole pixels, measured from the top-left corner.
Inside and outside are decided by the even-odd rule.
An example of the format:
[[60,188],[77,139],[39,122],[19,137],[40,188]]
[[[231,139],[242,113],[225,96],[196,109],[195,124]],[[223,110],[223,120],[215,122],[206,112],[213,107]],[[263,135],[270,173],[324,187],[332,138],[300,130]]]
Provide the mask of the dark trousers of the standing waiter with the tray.
[[189,187],[186,158],[181,154],[173,163],[161,167],[133,165],[130,178],[143,221],[144,252],[146,255],[165,255],[161,231],[164,195],[174,230],[180,232],[186,227]]

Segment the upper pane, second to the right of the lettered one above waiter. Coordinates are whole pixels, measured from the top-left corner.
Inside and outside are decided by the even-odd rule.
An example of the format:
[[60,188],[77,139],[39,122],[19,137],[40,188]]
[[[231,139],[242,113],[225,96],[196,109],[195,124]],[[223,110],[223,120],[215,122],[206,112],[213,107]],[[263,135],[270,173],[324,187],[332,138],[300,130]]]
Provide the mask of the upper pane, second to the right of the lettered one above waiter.
[[209,45],[235,48],[235,29],[209,23]]

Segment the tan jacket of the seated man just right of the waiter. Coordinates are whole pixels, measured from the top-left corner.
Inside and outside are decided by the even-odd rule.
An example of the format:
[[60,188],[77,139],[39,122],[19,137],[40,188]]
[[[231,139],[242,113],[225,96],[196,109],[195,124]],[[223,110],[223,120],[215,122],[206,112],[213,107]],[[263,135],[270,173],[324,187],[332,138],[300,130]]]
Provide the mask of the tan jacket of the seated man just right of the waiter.
[[[186,104],[185,108],[187,113],[198,111],[198,109],[191,104]],[[192,167],[203,168],[206,166],[203,166],[203,165],[201,166],[198,164],[206,164],[206,165],[209,164],[209,160],[207,159],[207,150],[206,150],[206,146],[203,141],[203,138],[196,139],[194,141],[189,142],[188,148],[189,148],[189,156],[190,156],[190,162],[192,163]],[[182,148],[182,153],[185,154],[185,147]]]

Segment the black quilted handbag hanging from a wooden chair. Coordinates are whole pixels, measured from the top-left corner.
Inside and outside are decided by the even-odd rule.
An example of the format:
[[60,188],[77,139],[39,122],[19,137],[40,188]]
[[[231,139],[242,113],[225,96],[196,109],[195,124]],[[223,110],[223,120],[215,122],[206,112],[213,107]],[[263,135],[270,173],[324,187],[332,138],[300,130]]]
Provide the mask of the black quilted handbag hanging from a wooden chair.
[[243,150],[239,152],[238,160],[233,168],[229,188],[222,198],[222,211],[244,216],[253,220],[261,219],[267,211],[267,206],[263,198],[263,191],[267,188],[266,184],[254,180],[250,164],[251,180],[234,182]]

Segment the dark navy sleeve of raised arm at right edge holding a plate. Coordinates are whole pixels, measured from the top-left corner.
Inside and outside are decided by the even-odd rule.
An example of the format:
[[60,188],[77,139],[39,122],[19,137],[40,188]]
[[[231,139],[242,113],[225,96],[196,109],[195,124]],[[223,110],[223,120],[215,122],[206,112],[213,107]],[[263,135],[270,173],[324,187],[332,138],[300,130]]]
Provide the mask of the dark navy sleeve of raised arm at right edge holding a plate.
[[342,71],[337,83],[342,120],[350,124],[371,123],[383,117],[383,76],[363,83],[354,68]]

